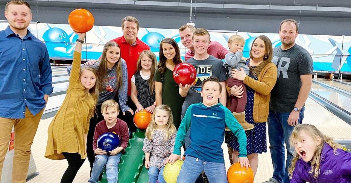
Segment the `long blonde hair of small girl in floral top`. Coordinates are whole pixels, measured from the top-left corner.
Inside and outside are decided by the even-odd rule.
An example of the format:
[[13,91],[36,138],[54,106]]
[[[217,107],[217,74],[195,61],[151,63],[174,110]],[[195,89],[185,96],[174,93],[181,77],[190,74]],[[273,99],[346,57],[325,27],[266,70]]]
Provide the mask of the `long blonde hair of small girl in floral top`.
[[151,122],[149,124],[149,126],[147,126],[146,128],[146,132],[145,132],[145,137],[152,140],[152,134],[153,132],[157,129],[157,124],[155,122],[155,114],[157,113],[158,110],[164,110],[168,112],[168,121],[166,124],[166,136],[165,136],[165,141],[167,141],[168,139],[170,139],[171,135],[176,132],[176,127],[173,124],[173,115],[172,115],[172,111],[171,108],[168,107],[167,105],[158,105],[153,114],[152,114],[152,118],[151,118]]

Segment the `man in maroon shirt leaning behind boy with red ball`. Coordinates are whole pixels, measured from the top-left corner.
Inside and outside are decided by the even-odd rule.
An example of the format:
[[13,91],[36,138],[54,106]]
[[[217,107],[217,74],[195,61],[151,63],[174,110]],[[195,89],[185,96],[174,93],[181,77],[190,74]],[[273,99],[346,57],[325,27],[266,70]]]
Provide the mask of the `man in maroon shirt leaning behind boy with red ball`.
[[[181,43],[189,49],[184,56],[185,60],[192,58],[195,55],[194,46],[192,43],[195,29],[196,28],[192,25],[183,25],[179,28]],[[219,42],[211,41],[210,46],[207,49],[207,53],[218,59],[224,59],[225,54],[229,53],[229,50],[225,49]]]

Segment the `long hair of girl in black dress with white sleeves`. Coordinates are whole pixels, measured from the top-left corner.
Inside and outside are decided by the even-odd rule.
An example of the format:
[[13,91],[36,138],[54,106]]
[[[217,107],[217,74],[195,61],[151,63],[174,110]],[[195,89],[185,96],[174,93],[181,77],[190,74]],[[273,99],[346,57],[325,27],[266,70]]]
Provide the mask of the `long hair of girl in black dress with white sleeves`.
[[155,75],[155,70],[157,68],[157,59],[156,59],[156,55],[152,51],[144,50],[140,53],[139,58],[138,58],[138,62],[137,62],[137,70],[135,71],[134,74],[140,72],[141,69],[143,69],[141,67],[141,59],[143,59],[144,56],[147,56],[152,60],[151,73],[150,73],[150,78],[148,79],[148,82],[149,82],[150,92],[151,92],[151,94],[153,94],[155,91],[155,89],[154,89],[154,75]]

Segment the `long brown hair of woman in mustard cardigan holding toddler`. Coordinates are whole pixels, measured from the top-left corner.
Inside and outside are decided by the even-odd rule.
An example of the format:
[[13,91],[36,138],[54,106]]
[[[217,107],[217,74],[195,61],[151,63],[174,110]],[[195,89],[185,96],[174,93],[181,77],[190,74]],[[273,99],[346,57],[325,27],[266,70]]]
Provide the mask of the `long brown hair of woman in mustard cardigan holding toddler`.
[[263,57],[263,62],[261,62],[258,66],[256,66],[255,68],[252,68],[250,65],[249,65],[249,68],[250,68],[250,72],[253,74],[253,75],[256,75],[256,76],[259,76],[261,70],[267,65],[269,64],[270,62],[272,62],[272,58],[273,58],[273,47],[272,47],[272,42],[271,40],[265,36],[265,35],[259,35],[257,36],[252,44],[251,44],[251,49],[250,49],[250,58],[253,59],[253,56],[252,56],[252,47],[253,47],[253,43],[257,40],[257,38],[261,39],[264,44],[265,44],[265,54],[264,54],[264,57]]

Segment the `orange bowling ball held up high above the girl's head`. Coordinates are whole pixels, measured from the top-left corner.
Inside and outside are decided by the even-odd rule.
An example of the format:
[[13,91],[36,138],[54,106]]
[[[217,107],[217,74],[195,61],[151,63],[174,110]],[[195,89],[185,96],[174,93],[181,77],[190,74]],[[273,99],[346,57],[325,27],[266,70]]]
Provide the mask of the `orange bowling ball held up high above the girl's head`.
[[68,15],[68,24],[78,33],[86,33],[94,26],[94,16],[86,9],[75,9]]

